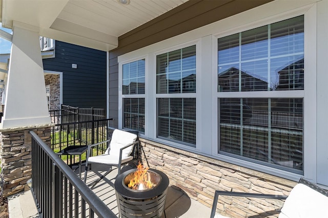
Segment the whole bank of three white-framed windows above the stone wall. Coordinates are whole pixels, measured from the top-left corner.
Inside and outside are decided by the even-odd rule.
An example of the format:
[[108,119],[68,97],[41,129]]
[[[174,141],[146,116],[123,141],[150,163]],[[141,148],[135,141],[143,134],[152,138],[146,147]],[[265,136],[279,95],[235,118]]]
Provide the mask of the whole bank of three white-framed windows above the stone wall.
[[[327,129],[318,16],[317,4],[273,1],[119,56],[118,127],[145,126],[143,137],[166,146],[327,184],[317,174]],[[142,59],[145,77],[131,73]]]

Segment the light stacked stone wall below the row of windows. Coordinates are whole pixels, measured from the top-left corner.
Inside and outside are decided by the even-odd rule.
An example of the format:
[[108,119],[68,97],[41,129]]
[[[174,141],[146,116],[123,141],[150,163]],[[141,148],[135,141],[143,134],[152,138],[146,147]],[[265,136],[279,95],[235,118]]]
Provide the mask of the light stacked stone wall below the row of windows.
[[[296,182],[141,139],[142,163],[166,173],[170,185],[212,207],[215,190],[288,195]],[[146,157],[146,158],[145,158]],[[219,196],[217,211],[229,217],[277,217],[282,200]]]

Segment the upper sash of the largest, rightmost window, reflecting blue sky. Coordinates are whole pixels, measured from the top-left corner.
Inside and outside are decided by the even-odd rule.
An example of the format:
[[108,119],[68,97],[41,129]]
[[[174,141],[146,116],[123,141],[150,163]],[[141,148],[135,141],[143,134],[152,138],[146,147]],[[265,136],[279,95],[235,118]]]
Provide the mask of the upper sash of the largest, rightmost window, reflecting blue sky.
[[218,91],[302,90],[304,16],[218,39]]

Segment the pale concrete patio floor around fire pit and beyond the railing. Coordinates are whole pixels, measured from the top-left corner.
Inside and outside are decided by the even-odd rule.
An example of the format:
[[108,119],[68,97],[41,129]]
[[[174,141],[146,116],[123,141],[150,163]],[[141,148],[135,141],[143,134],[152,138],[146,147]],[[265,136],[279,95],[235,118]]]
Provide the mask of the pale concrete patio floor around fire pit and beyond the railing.
[[[124,168],[123,168],[124,170]],[[78,172],[78,171],[75,171]],[[103,174],[100,166],[92,166],[92,171],[88,171],[87,184]],[[116,203],[114,182],[117,169],[114,169],[109,175],[95,185],[92,190],[103,202],[117,215],[118,209]],[[82,174],[82,177],[84,174]],[[31,191],[17,193],[8,198],[9,218],[34,218],[38,215]],[[211,208],[191,199],[181,189],[169,186],[165,205],[165,214],[162,218],[209,218]]]

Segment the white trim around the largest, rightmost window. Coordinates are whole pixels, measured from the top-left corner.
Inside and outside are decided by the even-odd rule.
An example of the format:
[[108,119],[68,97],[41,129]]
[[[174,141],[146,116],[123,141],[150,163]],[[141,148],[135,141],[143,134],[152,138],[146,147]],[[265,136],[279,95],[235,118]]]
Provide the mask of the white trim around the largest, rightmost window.
[[[279,7],[283,8],[280,2]],[[271,4],[271,6],[276,7],[276,5]],[[271,11],[274,11],[271,9]],[[279,10],[278,10],[279,11]],[[278,12],[276,11],[276,13]],[[244,12],[246,13],[246,12]],[[256,14],[261,13],[260,9],[258,12],[254,12]],[[277,98],[286,96],[289,98],[304,98],[304,135],[303,135],[303,166],[304,166],[304,177],[309,180],[316,182],[316,172],[313,170],[316,168],[316,146],[314,146],[313,141],[316,141],[316,89],[311,89],[311,87],[316,87],[316,5],[307,5],[301,7],[299,9],[295,9],[292,11],[285,11],[284,13],[277,14],[271,17],[262,18],[251,22],[252,25],[244,25],[235,28],[227,28],[226,31],[221,32],[220,34],[216,34],[216,43],[217,39],[232,35],[235,33],[247,31],[250,29],[254,29],[257,27],[261,27],[264,25],[269,25],[270,23],[274,23],[277,21],[293,18],[299,15],[304,15],[304,90],[293,90],[293,91],[254,91],[252,92],[252,98]],[[231,26],[232,22],[230,18],[225,20],[227,24]],[[232,24],[233,25],[233,24]],[[221,27],[222,28],[222,27]],[[213,53],[213,56],[217,57],[217,50]],[[217,66],[217,58],[215,59],[215,66]],[[306,73],[307,72],[307,73]],[[213,120],[218,120],[218,98],[249,98],[250,93],[247,92],[217,92],[217,72],[216,69],[213,74],[213,93],[214,98],[212,101],[213,106]],[[218,126],[216,124],[212,124],[212,132],[213,132],[213,144],[218,145]],[[313,145],[313,146],[311,146]],[[216,156],[218,159],[227,161],[230,163],[242,165],[245,167],[253,168],[258,171],[268,172],[273,175],[277,175],[284,178],[289,178],[293,180],[298,180],[301,175],[286,172],[280,169],[276,169],[270,166],[264,166],[261,164],[256,164],[253,162],[241,160],[238,158],[233,158],[230,156],[218,154],[218,146],[213,146],[212,155]]]

